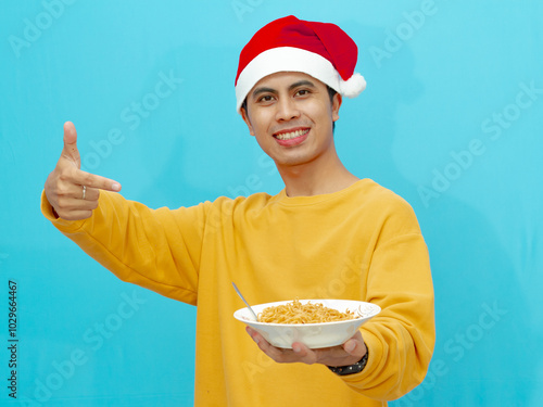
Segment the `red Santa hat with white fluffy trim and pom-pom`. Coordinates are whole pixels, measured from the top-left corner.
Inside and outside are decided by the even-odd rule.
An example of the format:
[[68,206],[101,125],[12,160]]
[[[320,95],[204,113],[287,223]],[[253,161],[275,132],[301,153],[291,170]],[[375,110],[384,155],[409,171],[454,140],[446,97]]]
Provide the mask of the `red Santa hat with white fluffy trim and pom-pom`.
[[366,80],[354,73],[358,49],[340,27],[306,22],[293,15],[261,28],[243,48],[236,75],[236,109],[254,85],[277,72],[302,72],[341,96],[357,97]]

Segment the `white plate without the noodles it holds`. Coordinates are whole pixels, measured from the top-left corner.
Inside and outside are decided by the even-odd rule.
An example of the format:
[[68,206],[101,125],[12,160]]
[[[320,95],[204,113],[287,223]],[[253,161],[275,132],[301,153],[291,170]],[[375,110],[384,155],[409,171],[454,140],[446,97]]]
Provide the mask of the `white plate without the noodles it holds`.
[[[256,315],[264,308],[283,305],[292,301],[260,304],[251,306]],[[381,308],[371,303],[349,300],[300,300],[300,303],[320,303],[325,307],[345,313],[348,309],[359,317],[344,321],[320,323],[267,323],[253,319],[247,307],[233,313],[233,317],[260,332],[266,341],[276,347],[292,348],[292,343],[301,342],[310,348],[337,346],[344,343],[356,333],[356,330],[368,319],[381,311]]]

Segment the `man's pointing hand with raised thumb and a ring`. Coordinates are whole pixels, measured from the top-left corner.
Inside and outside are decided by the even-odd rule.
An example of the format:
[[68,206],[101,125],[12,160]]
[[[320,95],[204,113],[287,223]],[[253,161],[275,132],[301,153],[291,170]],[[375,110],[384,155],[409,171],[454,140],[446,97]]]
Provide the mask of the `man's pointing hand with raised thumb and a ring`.
[[66,220],[86,219],[98,207],[100,190],[121,191],[121,185],[81,169],[77,132],[71,122],[64,124],[64,148],[46,180],[46,196],[56,215]]

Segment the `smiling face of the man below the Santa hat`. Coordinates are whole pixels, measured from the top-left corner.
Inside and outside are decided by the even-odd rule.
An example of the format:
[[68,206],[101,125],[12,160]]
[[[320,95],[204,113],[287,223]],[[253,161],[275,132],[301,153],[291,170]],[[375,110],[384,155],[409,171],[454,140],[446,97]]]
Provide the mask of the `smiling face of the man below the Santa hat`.
[[341,96],[314,77],[280,72],[261,79],[247,97],[243,120],[261,148],[279,166],[318,161],[333,153],[332,125]]

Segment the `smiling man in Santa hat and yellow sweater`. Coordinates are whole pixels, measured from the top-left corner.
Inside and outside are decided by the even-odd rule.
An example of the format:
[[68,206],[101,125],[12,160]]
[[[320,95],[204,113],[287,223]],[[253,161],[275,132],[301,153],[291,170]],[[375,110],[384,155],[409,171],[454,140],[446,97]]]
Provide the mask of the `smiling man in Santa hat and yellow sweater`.
[[[199,406],[382,406],[426,374],[433,290],[415,215],[351,174],[334,148],[342,96],[365,88],[356,56],[339,27],[293,16],[262,28],[241,52],[237,107],[285,181],[275,196],[152,211],[81,171],[75,128],[64,126],[42,212],[124,281],[198,304]],[[231,281],[255,304],[336,297],[382,311],[341,346],[276,348],[232,318],[242,304]]]

